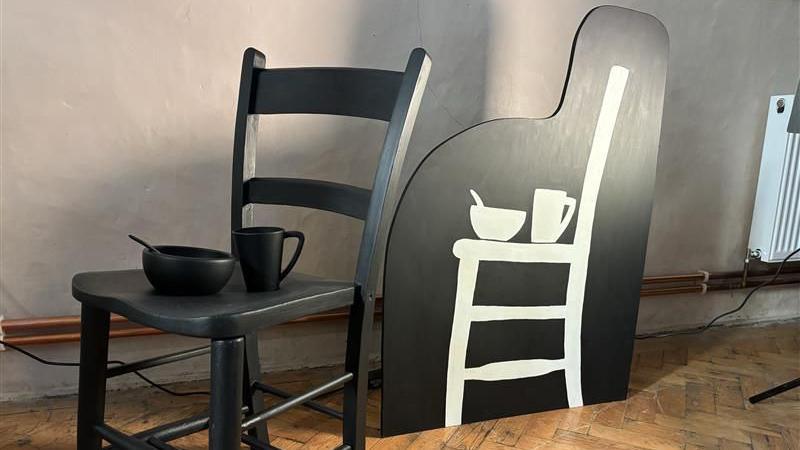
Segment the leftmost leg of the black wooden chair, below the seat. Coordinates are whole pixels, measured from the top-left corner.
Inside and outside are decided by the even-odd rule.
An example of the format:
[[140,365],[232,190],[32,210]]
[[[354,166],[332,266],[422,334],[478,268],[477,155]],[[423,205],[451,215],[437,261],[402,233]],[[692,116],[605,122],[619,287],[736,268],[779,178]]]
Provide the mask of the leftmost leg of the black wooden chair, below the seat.
[[81,307],[81,361],[78,380],[78,446],[99,450],[102,439],[95,426],[104,420],[109,313]]

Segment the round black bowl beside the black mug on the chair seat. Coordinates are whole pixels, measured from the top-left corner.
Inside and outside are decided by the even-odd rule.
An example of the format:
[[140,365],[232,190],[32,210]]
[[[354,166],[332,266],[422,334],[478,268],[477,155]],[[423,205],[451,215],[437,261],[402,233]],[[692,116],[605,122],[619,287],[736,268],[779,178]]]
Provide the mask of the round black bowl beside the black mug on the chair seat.
[[225,287],[236,259],[229,253],[199,247],[156,245],[161,253],[142,251],[147,280],[166,295],[209,295]]

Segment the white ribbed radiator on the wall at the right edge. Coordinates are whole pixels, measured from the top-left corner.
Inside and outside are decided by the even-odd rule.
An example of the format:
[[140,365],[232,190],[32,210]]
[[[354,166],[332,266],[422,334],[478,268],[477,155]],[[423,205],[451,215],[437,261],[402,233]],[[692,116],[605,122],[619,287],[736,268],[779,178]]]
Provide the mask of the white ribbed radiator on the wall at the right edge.
[[[794,100],[794,95],[769,100],[748,244],[752,257],[768,263],[800,247],[800,133],[786,131]],[[791,261],[800,261],[800,253]]]

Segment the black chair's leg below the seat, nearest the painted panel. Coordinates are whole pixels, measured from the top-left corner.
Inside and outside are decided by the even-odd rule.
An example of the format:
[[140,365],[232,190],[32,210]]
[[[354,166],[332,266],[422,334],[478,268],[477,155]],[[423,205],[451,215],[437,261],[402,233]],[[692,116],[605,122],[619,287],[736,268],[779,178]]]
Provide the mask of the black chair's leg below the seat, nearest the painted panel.
[[353,378],[344,386],[342,436],[344,445],[352,450],[366,448],[367,381],[374,312],[375,300],[372,298],[356,298],[350,307],[345,370],[352,373]]

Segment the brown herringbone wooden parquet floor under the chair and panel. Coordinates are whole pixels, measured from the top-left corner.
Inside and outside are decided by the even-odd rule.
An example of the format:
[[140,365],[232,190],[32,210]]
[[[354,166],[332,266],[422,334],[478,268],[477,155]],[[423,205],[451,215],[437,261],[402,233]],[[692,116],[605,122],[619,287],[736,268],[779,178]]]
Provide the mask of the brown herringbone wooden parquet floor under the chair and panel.
[[[267,375],[302,391],[334,369]],[[370,450],[379,449],[798,449],[800,389],[757,405],[747,397],[800,376],[800,322],[715,329],[702,335],[637,342],[627,401],[550,411],[377,437],[380,393],[372,391]],[[194,389],[187,383],[176,389]],[[175,398],[153,389],[109,392],[107,420],[128,432],[205,409],[203,397]],[[340,406],[341,396],[324,403]],[[75,398],[0,404],[0,448],[74,448]],[[273,444],[287,450],[333,448],[339,422],[294,409],[269,423]],[[204,434],[174,444],[205,448]]]

